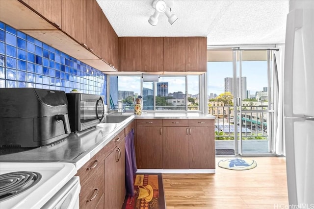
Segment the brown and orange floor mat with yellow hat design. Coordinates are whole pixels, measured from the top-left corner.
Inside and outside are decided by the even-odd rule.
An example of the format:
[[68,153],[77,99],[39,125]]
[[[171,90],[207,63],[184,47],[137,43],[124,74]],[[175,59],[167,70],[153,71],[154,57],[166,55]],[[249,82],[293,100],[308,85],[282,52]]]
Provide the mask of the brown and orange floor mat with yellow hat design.
[[166,209],[161,173],[136,173],[134,196],[126,196],[122,209]]

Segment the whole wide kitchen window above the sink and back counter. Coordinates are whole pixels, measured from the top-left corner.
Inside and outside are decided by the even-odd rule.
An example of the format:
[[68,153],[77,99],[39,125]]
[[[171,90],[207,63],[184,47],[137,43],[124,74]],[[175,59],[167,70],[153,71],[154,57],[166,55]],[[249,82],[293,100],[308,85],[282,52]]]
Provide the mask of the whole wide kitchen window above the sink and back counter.
[[160,75],[154,82],[144,82],[142,75],[110,75],[108,106],[110,108],[121,100],[126,111],[132,112],[132,98],[141,95],[143,111],[199,112],[199,80],[200,75]]

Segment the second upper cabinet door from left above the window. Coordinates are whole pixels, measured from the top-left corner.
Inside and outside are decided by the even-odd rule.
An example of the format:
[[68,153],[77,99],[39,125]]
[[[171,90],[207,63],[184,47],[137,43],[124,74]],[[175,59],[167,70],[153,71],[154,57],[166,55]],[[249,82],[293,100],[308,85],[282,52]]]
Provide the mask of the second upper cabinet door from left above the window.
[[142,37],[141,46],[141,71],[163,71],[163,38]]

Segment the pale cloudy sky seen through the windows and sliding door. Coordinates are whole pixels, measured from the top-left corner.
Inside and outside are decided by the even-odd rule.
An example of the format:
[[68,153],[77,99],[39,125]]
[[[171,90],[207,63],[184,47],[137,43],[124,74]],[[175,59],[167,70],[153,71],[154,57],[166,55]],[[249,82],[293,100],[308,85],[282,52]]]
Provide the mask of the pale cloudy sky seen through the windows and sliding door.
[[[208,94],[224,93],[225,77],[232,77],[232,62],[208,62]],[[261,92],[267,87],[267,62],[266,61],[242,61],[242,77],[246,76],[246,88],[250,94]],[[140,93],[141,76],[119,76],[119,91],[131,91]],[[168,82],[168,93],[185,91],[185,77],[159,77],[159,82]],[[188,93],[198,93],[198,75],[188,75]],[[143,87],[152,88],[153,82],[145,82]]]

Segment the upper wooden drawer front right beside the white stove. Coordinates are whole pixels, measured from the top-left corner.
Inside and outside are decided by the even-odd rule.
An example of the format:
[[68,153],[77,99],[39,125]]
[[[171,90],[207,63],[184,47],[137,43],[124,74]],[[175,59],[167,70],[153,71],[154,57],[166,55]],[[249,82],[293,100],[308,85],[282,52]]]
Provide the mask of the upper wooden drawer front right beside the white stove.
[[92,157],[87,163],[85,163],[81,168],[78,169],[80,184],[84,184],[90,176],[93,176],[97,169],[104,164],[105,157],[101,152],[98,152],[94,157]]

